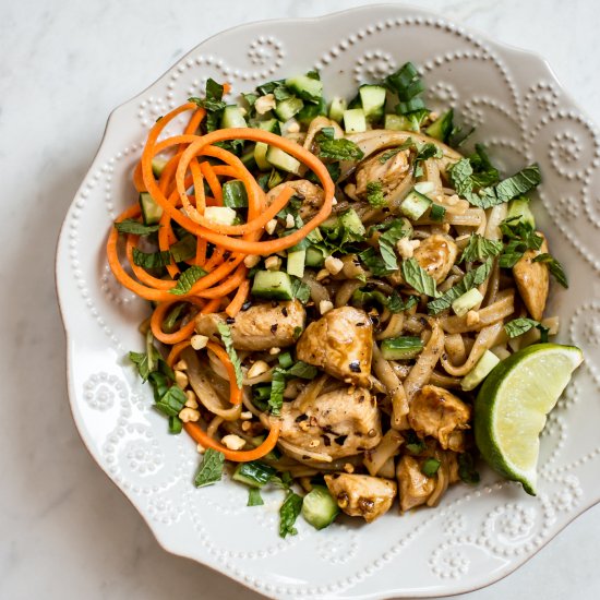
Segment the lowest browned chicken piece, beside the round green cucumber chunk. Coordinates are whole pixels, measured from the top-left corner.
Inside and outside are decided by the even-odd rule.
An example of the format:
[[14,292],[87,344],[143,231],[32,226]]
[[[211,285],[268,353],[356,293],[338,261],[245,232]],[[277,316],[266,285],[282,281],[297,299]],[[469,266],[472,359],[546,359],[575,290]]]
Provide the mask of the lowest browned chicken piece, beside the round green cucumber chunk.
[[396,483],[381,477],[334,473],[325,476],[325,483],[347,515],[367,523],[387,513],[396,497]]

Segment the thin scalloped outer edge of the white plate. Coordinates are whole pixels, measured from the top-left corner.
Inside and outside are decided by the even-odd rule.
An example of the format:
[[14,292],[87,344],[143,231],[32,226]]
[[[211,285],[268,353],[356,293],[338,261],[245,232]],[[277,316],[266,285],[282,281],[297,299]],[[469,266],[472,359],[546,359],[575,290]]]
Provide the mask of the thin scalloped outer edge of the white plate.
[[[391,10],[391,11],[394,11],[396,13],[403,13],[404,12],[404,13],[415,14],[415,15],[418,15],[418,16],[439,19],[439,20],[444,21],[447,24],[455,24],[455,22],[453,22],[452,20],[446,19],[444,15],[442,15],[440,13],[436,13],[436,12],[430,11],[430,10],[424,10],[420,7],[415,5],[415,4],[383,2],[383,3],[376,3],[376,4],[353,7],[353,8],[350,8],[350,9],[344,9],[344,10],[336,11],[336,12],[333,12],[333,13],[326,13],[326,14],[316,15],[316,16],[276,17],[276,19],[267,19],[267,20],[253,21],[253,22],[249,22],[249,23],[239,24],[239,25],[236,25],[233,27],[228,27],[228,28],[221,29],[221,31],[211,35],[209,37],[203,39],[201,43],[195,45],[189,51],[181,55],[173,62],[173,64],[170,68],[168,68],[161,75],[159,75],[153,83],[147,85],[139,94],[130,97],[128,100],[119,104],[117,107],[115,107],[111,110],[111,112],[108,116],[107,123],[106,123],[105,130],[103,132],[103,136],[100,139],[99,144],[98,144],[98,148],[97,148],[97,151],[94,155],[94,158],[92,160],[91,167],[86,171],[86,173],[85,173],[85,176],[82,180],[82,184],[77,188],[73,201],[71,202],[71,204],[67,208],[65,218],[62,221],[62,225],[60,227],[60,231],[59,231],[59,235],[58,235],[58,238],[57,238],[56,261],[55,261],[55,284],[56,284],[56,288],[57,288],[57,300],[58,300],[58,304],[59,304],[59,309],[60,309],[61,320],[62,320],[63,329],[64,329],[64,334],[65,334],[65,340],[67,340],[67,371],[65,371],[65,376],[67,376],[67,383],[68,383],[69,407],[70,407],[71,415],[72,415],[73,420],[74,420],[75,425],[76,425],[77,434],[80,435],[85,448],[87,449],[87,452],[89,453],[89,455],[94,459],[94,461],[100,467],[101,471],[109,479],[109,481],[111,481],[111,483],[116,485],[116,488],[122,493],[122,495],[136,509],[139,515],[146,523],[148,529],[152,531],[152,533],[155,537],[158,544],[165,551],[167,551],[171,554],[178,555],[178,556],[182,556],[184,559],[189,559],[189,560],[199,562],[200,564],[202,564],[202,565],[204,565],[204,566],[206,566],[211,569],[214,569],[214,571],[225,575],[226,577],[237,581],[238,584],[244,586],[245,588],[248,588],[252,591],[255,591],[255,592],[257,592],[262,596],[268,597],[268,598],[277,598],[277,596],[271,595],[269,592],[267,592],[265,590],[259,590],[255,587],[253,587],[251,584],[243,580],[243,578],[236,577],[231,572],[229,572],[227,569],[227,567],[225,565],[221,565],[218,561],[213,560],[213,557],[209,556],[209,555],[206,556],[205,559],[201,560],[197,556],[194,556],[192,553],[189,553],[189,552],[185,552],[185,551],[182,551],[182,550],[178,549],[178,544],[176,542],[172,542],[172,543],[169,542],[167,540],[168,536],[165,535],[163,529],[160,527],[155,527],[153,525],[153,523],[148,518],[148,515],[145,514],[141,502],[139,500],[136,500],[135,497],[128,495],[125,493],[125,491],[111,478],[111,476],[109,475],[109,472],[106,468],[106,464],[103,464],[95,456],[95,453],[92,449],[88,440],[84,436],[84,433],[82,432],[83,419],[81,417],[81,413],[76,410],[77,401],[76,401],[76,393],[75,393],[75,389],[74,389],[74,381],[73,381],[73,375],[72,375],[72,368],[73,368],[72,349],[71,349],[71,347],[72,347],[72,345],[71,345],[72,334],[70,333],[70,329],[69,329],[69,323],[68,323],[69,322],[69,315],[68,315],[68,311],[67,311],[65,305],[64,305],[65,299],[63,298],[63,293],[65,293],[65,292],[61,292],[61,286],[59,284],[59,279],[61,277],[61,268],[62,268],[62,264],[61,264],[62,254],[63,254],[63,252],[65,252],[65,241],[64,240],[67,238],[67,235],[65,235],[67,221],[68,221],[69,213],[71,212],[71,208],[72,208],[73,204],[75,203],[75,199],[79,196],[80,192],[84,188],[84,183],[88,179],[89,175],[94,171],[96,160],[98,159],[99,155],[101,154],[101,152],[103,152],[103,149],[104,149],[104,147],[107,143],[108,132],[109,132],[109,129],[111,127],[111,122],[115,121],[115,118],[117,117],[117,115],[121,111],[121,109],[123,109],[127,106],[131,105],[132,103],[134,103],[139,98],[142,98],[152,88],[154,88],[156,85],[160,84],[163,82],[163,80],[165,80],[168,76],[168,74],[173,70],[173,68],[177,64],[185,61],[185,59],[188,57],[190,57],[191,55],[193,55],[194,52],[200,50],[202,48],[202,46],[204,46],[206,43],[218,38],[219,36],[221,36],[225,33],[251,29],[251,28],[253,28],[257,25],[263,25],[263,24],[269,25],[269,26],[277,26],[279,24],[289,24],[289,23],[310,24],[310,23],[313,23],[313,22],[320,22],[322,20],[328,20],[328,19],[335,19],[335,17],[345,17],[347,15],[352,15],[355,13],[365,12],[365,11],[369,11],[369,10],[381,10],[381,9]],[[513,46],[513,45],[500,41],[500,40],[497,40],[493,37],[490,37],[487,33],[480,31],[477,27],[463,26],[463,25],[458,25],[457,27],[461,31],[476,34],[479,38],[481,38],[485,43],[492,45],[493,47],[495,47],[495,48],[497,48],[497,49],[500,49],[504,52],[511,53],[513,56],[513,58],[518,58],[518,57],[526,56],[526,57],[529,57],[530,59],[535,59],[539,63],[540,67],[543,67],[545,69],[548,75],[551,77],[553,83],[557,86],[557,88],[563,94],[565,100],[567,100],[567,103],[571,104],[573,107],[577,108],[577,110],[583,116],[586,117],[586,119],[589,121],[589,123],[595,125],[595,123],[591,120],[591,118],[589,117],[589,115],[580,108],[580,106],[577,104],[577,101],[574,100],[574,98],[571,96],[569,92],[567,89],[565,89],[565,87],[562,85],[560,79],[555,74],[555,72],[552,69],[551,64],[548,62],[548,60],[542,55],[540,55],[536,51],[529,50],[529,49],[523,49],[523,48],[519,48],[517,46]],[[476,580],[472,576],[470,576],[469,577],[469,583],[466,584],[466,585],[459,585],[459,584],[456,585],[456,583],[454,583],[451,590],[444,591],[443,589],[440,589],[440,590],[434,591],[434,592],[419,591],[419,590],[416,590],[416,589],[412,589],[412,590],[409,590],[409,591],[403,591],[401,588],[396,588],[394,590],[388,590],[388,591],[385,591],[385,592],[374,591],[372,593],[352,595],[351,593],[351,588],[348,588],[348,590],[347,590],[349,592],[348,597],[355,598],[356,600],[371,600],[371,599],[375,599],[375,598],[381,598],[381,599],[412,598],[412,597],[415,597],[415,598],[440,598],[440,597],[443,597],[443,596],[454,597],[454,596],[458,596],[458,595],[461,595],[461,593],[467,593],[467,592],[470,592],[470,591],[476,591],[478,589],[482,589],[484,587],[488,587],[488,586],[505,578],[506,576],[512,574],[514,571],[519,568],[523,564],[525,564],[530,559],[532,559],[549,542],[551,542],[559,533],[561,533],[569,524],[572,524],[576,518],[578,518],[586,511],[588,511],[589,508],[597,505],[599,502],[600,502],[600,495],[596,499],[590,500],[588,503],[584,503],[584,504],[579,505],[574,514],[572,514],[572,515],[569,515],[569,517],[566,517],[563,520],[561,520],[561,525],[557,527],[557,529],[555,531],[553,531],[541,544],[539,544],[537,548],[535,548],[531,552],[524,553],[518,559],[514,560],[514,562],[508,563],[506,566],[504,566],[502,568],[497,568],[494,572],[494,575],[491,576],[491,577],[490,576],[488,576],[488,577],[483,576],[482,578]]]

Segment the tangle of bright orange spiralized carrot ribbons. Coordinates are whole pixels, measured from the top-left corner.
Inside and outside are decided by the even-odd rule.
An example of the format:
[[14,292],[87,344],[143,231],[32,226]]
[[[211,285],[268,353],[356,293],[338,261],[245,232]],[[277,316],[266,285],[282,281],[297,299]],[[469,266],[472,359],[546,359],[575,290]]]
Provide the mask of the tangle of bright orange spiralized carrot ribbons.
[[[224,85],[224,93],[230,91]],[[159,140],[165,128],[184,112],[191,112],[183,133]],[[260,129],[221,129],[207,134],[199,134],[205,109],[194,103],[184,104],[159,119],[151,129],[142,158],[134,169],[133,183],[139,192],[147,192],[153,201],[161,207],[158,219],[158,249],[170,252],[181,238],[180,228],[185,236],[195,237],[193,256],[185,256],[183,263],[176,263],[173,255],[165,265],[168,278],[144,268],[134,262],[134,253],[140,247],[141,237],[134,233],[124,236],[124,247],[120,249],[117,229],[110,231],[107,241],[108,264],[115,277],[137,296],[157,302],[152,317],[151,331],[156,339],[170,346],[167,363],[172,368],[181,352],[191,346],[195,319],[179,326],[175,332],[163,329],[166,315],[179,302],[193,304],[200,314],[209,314],[223,310],[228,316],[236,316],[242,309],[250,293],[248,267],[243,264],[245,256],[265,256],[296,245],[310,231],[325,220],[332,211],[335,185],[327,169],[309,151],[279,135]],[[281,192],[267,203],[266,194],[253,175],[238,156],[221,147],[223,142],[244,140],[264,142],[280,148],[297,158],[319,179],[324,192],[324,202],[319,212],[300,229],[277,239],[261,240],[269,220],[284,209],[295,191],[283,187]],[[156,177],[152,161],[160,156],[165,166]],[[227,180],[239,180],[248,196],[245,223],[225,225],[211,220],[206,215],[208,206],[223,206],[223,190]],[[193,189],[193,190],[192,190]],[[136,203],[127,208],[116,223],[125,219],[142,221],[142,212]],[[121,263],[120,254],[127,260],[131,274]],[[195,265],[204,271],[201,277],[189,286],[185,293],[173,296],[173,288],[182,272]],[[192,309],[194,310],[194,309]],[[238,387],[236,369],[228,352],[217,341],[206,344],[207,351],[213,352],[225,367],[229,379],[229,396],[233,407],[241,407],[243,391]],[[239,463],[255,460],[268,454],[277,443],[280,423],[272,421],[266,440],[250,451],[231,451],[214,440],[197,423],[183,423],[185,431],[204,447],[223,452],[229,460]]]

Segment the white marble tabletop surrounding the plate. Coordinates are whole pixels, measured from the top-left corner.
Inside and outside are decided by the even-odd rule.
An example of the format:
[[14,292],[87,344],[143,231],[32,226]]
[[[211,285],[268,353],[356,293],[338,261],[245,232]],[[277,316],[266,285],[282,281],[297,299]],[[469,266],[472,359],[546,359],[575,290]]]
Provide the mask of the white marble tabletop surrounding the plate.
[[[55,245],[115,106],[223,28],[364,3],[2,2],[0,598],[260,598],[166,554],[85,451],[67,400]],[[544,56],[600,123],[596,0],[423,0],[419,5]],[[552,600],[573,592],[584,600],[599,598],[599,533],[596,507],[519,571],[460,598],[525,600],[536,593]]]

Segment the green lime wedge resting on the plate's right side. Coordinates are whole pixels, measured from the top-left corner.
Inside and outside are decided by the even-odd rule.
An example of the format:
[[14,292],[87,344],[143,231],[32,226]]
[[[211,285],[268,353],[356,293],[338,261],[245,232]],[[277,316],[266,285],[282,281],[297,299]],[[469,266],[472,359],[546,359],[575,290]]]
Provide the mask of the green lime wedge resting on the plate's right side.
[[579,348],[535,344],[503,360],[475,401],[475,440],[497,472],[536,494],[539,435],[571,375],[584,361]]

